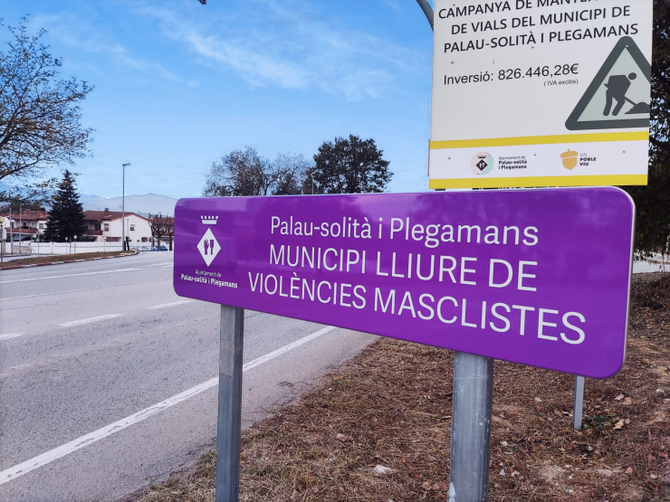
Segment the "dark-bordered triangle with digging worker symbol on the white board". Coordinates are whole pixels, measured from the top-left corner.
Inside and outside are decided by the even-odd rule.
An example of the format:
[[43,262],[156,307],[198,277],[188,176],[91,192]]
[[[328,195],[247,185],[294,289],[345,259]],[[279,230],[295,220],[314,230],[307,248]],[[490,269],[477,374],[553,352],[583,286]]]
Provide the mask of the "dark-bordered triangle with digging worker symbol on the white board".
[[565,127],[570,130],[648,128],[651,65],[629,36],[614,50],[579,99]]

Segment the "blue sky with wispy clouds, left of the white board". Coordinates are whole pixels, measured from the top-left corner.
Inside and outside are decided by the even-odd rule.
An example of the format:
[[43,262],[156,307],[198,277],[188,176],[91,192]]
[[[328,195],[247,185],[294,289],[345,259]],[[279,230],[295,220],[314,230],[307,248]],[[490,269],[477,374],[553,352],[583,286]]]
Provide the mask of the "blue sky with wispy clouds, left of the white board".
[[[83,194],[198,196],[213,161],[253,145],[311,158],[372,137],[391,192],[427,189],[432,33],[415,0],[22,0],[0,17],[95,90],[81,107]],[[6,38],[6,29],[0,37]],[[49,173],[59,175],[58,170]]]

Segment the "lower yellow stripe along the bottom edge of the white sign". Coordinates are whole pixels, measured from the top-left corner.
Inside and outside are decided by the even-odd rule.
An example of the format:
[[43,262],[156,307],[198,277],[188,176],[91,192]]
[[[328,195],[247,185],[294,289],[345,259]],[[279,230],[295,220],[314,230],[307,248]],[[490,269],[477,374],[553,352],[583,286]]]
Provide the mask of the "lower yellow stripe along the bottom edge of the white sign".
[[646,175],[603,176],[531,176],[519,178],[462,178],[432,179],[428,183],[436,188],[524,188],[532,186],[625,186],[646,185]]

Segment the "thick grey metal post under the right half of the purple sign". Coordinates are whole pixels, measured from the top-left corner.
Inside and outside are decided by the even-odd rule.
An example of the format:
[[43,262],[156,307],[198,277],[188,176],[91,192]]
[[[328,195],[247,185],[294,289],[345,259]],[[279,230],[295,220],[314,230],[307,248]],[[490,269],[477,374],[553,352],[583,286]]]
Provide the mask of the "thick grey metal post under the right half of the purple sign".
[[454,357],[449,502],[489,497],[493,358],[456,352]]

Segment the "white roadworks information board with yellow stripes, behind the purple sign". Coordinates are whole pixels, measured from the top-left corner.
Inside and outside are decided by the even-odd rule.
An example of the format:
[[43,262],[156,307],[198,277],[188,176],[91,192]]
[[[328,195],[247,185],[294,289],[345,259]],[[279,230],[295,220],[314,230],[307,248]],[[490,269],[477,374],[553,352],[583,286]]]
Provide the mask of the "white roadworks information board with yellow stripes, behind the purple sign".
[[653,0],[436,0],[430,188],[646,185]]

